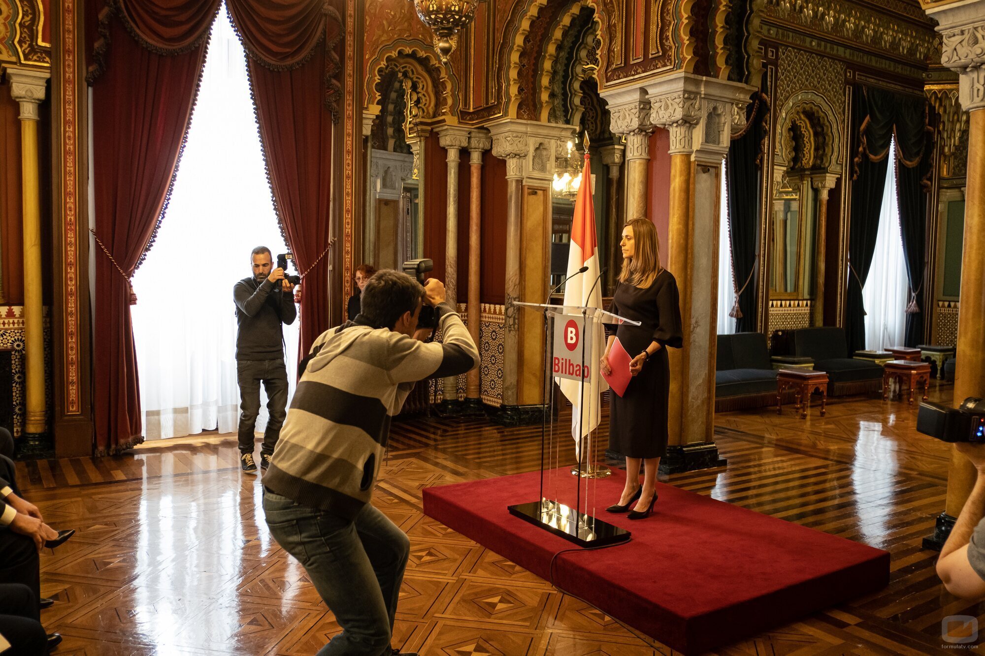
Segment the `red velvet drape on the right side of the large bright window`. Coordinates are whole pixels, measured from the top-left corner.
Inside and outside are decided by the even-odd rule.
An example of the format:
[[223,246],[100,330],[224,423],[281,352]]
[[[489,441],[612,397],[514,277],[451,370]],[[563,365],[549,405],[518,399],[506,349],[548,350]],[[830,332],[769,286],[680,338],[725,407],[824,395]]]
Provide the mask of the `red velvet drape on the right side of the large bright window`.
[[325,0],[228,0],[277,208],[298,271],[303,357],[330,325],[332,137],[342,21]]

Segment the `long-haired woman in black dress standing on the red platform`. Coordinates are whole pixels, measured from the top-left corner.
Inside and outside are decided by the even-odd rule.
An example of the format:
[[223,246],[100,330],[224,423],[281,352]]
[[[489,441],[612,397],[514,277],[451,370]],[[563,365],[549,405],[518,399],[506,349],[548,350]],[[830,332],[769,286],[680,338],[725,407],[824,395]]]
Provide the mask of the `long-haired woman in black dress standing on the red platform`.
[[[657,468],[667,451],[670,365],[667,347],[683,344],[677,281],[660,266],[657,230],[648,219],[633,219],[623,229],[623,272],[609,311],[640,325],[620,325],[609,336],[601,368],[608,372],[609,352],[619,338],[632,361],[632,379],[622,397],[612,394],[609,448],[625,456],[625,487],[619,502],[606,510],[629,519],[648,517],[657,500]],[[643,484],[639,466],[643,464]]]

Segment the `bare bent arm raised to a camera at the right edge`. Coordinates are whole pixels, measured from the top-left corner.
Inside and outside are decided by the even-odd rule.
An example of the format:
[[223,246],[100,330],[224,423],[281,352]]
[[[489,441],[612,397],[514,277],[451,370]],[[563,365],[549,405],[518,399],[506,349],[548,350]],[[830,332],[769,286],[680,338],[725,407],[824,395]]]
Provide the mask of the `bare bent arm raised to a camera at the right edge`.
[[978,470],[975,487],[954,522],[937,561],[937,574],[952,595],[985,597],[985,445],[955,444]]

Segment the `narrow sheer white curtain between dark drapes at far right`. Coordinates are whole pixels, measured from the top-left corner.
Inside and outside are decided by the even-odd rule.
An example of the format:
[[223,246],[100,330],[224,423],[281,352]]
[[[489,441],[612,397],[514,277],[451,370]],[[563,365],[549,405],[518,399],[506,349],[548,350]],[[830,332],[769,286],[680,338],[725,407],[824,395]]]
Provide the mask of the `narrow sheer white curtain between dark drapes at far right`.
[[902,346],[906,333],[906,264],[903,240],[899,234],[899,206],[896,202],[895,141],[889,147],[893,158],[886,167],[886,189],[879,216],[876,252],[865,287],[865,348],[869,350]]

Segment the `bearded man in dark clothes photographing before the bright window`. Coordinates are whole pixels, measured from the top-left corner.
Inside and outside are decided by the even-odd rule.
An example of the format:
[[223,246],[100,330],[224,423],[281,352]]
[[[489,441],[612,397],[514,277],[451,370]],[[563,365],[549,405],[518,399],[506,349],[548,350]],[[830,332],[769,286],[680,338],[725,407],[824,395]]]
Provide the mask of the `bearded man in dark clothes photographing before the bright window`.
[[284,269],[273,267],[266,246],[250,253],[253,275],[232,288],[236,303],[236,378],[239,383],[239,464],[255,474],[253,430],[260,412],[260,384],[267,391],[267,428],[260,448],[260,466],[270,464],[281,426],[287,417],[288,369],[284,363],[283,324],[297,317],[295,286],[284,278]]

